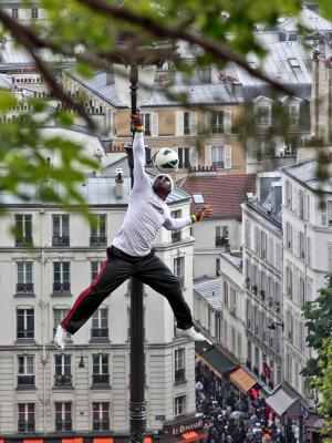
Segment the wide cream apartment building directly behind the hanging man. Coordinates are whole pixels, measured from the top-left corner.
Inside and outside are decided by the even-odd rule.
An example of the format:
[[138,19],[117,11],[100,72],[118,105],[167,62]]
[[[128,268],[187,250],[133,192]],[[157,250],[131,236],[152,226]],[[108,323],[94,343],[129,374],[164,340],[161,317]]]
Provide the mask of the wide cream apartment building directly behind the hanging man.
[[[126,210],[129,178],[86,177],[80,190],[97,223],[75,210],[43,205],[35,188],[22,202],[2,194],[0,279],[0,435],[127,435],[129,399],[129,282],[105,299],[64,351],[54,328],[96,277],[105,248]],[[120,192],[121,190],[121,192]],[[172,212],[189,215],[189,195],[175,187]],[[181,281],[193,306],[193,238],[162,230],[158,256]],[[147,432],[195,418],[193,342],[175,336],[173,312],[145,287],[145,393]]]

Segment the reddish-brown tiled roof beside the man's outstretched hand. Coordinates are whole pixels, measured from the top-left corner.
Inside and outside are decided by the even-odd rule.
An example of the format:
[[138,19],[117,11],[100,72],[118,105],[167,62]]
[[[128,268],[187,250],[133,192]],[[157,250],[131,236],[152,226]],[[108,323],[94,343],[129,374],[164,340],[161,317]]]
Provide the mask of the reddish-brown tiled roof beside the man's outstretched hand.
[[[188,176],[178,182],[179,186],[190,194],[201,194],[205,204],[211,205],[214,218],[241,217],[241,203],[247,193],[256,193],[256,174]],[[196,213],[203,204],[191,203],[191,212]]]

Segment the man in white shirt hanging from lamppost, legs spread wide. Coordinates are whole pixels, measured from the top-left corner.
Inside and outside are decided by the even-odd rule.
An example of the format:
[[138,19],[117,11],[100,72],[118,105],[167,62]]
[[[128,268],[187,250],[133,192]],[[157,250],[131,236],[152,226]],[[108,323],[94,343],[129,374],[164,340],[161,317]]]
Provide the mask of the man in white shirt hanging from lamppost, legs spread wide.
[[123,225],[107,248],[107,258],[93,281],[76,299],[73,307],[56,328],[54,343],[64,349],[74,334],[98,308],[102,301],[129,277],[135,276],[166,297],[177,321],[178,333],[191,340],[203,341],[204,336],[193,326],[190,309],[185,301],[179,280],[155,255],[152,248],[159,228],[178,230],[204,217],[212,215],[209,205],[190,217],[173,218],[166,198],[173,188],[173,179],[159,174],[151,184],[144,171],[145,148],[139,112],[132,115],[136,127],[133,141],[134,186]]

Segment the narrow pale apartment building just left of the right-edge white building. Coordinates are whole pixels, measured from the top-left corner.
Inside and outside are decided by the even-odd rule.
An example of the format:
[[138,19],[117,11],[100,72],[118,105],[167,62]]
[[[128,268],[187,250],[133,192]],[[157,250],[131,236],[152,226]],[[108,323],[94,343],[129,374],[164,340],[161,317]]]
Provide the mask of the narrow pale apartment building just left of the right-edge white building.
[[258,175],[242,212],[247,367],[272,390],[283,367],[280,173]]

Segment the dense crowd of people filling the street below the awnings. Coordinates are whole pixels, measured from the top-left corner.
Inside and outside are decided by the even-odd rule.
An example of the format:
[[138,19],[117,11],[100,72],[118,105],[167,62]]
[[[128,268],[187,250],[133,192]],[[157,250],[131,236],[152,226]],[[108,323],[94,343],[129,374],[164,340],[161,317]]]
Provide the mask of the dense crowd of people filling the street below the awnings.
[[243,394],[200,361],[196,362],[196,411],[205,415],[209,443],[286,442],[278,418],[257,390]]

